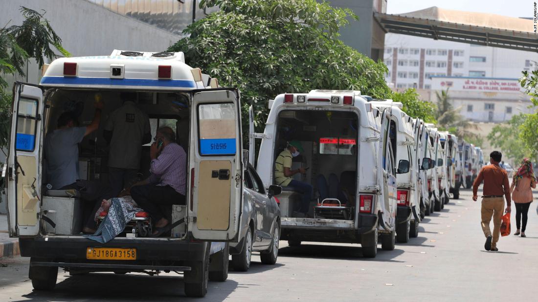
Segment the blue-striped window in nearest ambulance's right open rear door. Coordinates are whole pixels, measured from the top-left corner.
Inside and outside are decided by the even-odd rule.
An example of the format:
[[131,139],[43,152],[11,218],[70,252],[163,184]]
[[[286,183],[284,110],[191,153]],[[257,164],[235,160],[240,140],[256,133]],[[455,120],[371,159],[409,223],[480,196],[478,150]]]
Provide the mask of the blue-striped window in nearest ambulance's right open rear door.
[[236,109],[233,103],[198,106],[200,155],[235,155]]

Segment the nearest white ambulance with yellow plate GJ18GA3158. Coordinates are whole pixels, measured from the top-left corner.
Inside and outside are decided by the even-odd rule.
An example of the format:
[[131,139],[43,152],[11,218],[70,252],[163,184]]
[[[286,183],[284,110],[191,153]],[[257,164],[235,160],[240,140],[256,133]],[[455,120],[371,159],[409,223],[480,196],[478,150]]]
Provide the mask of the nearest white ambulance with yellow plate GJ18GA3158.
[[[53,289],[59,267],[70,274],[175,271],[183,274],[185,294],[191,297],[206,294],[208,279],[225,281],[228,242],[240,237],[247,163],[238,90],[219,88],[216,79],[185,64],[181,52],[114,50],[110,56],[54,60],[39,85],[17,82],[13,91],[4,167],[9,233],[19,239],[20,254],[30,257],[34,289]],[[100,244],[80,234],[83,217],[76,193],[47,188],[44,139],[64,111],[79,112],[82,126],[88,124],[97,93],[105,120],[121,106],[119,93],[125,91],[136,93],[152,136],[158,127],[172,127],[187,152],[186,204],[167,207],[174,228],[165,237],[151,237],[151,218],[137,214],[129,233]],[[102,127],[96,132],[80,143],[80,177],[106,183],[108,151]],[[144,177],[149,148],[142,147]]]

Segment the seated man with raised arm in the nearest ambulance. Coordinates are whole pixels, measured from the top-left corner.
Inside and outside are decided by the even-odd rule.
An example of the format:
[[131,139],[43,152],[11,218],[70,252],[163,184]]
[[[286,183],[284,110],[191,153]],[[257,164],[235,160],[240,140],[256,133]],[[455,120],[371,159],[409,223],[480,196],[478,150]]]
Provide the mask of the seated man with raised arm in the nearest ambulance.
[[87,222],[82,229],[85,233],[95,232],[95,211],[101,200],[112,197],[100,183],[80,180],[79,177],[79,143],[84,136],[99,128],[103,102],[95,102],[94,106],[94,119],[87,127],[77,127],[75,114],[64,112],[58,118],[56,130],[49,132],[45,138],[47,181],[52,186],[49,189],[75,189],[80,192],[81,200],[86,203],[84,217],[87,217]]

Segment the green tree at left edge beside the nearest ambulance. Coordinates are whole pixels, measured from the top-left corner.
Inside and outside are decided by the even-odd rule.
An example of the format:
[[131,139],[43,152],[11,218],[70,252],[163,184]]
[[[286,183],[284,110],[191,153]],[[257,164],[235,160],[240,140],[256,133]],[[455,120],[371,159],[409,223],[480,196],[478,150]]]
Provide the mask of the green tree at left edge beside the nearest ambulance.
[[54,49],[63,56],[69,56],[61,46],[61,39],[43,16],[45,11],[37,12],[24,6],[20,7],[24,16],[22,25],[0,28],[0,148],[8,145],[12,95],[5,91],[9,86],[5,75],[25,75],[24,68],[29,58],[34,58],[43,67],[45,58],[55,57]]

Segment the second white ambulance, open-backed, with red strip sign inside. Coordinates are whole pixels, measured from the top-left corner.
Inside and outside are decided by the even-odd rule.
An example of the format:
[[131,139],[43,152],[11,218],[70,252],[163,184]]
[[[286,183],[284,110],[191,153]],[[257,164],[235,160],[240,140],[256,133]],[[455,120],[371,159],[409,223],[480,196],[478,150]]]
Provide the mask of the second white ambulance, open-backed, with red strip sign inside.
[[[395,245],[397,214],[397,145],[390,129],[397,117],[372,108],[359,91],[312,90],[286,93],[269,101],[270,113],[261,138],[257,171],[265,186],[275,183],[275,159],[288,142],[300,141],[294,179],[314,188],[306,217],[295,211],[302,194],[283,187],[278,196],[281,239],[362,245],[365,257]],[[403,167],[402,167],[403,168]]]

